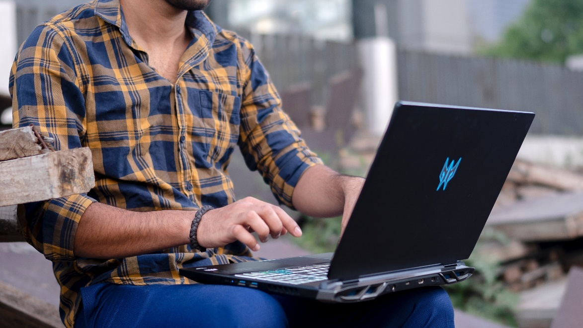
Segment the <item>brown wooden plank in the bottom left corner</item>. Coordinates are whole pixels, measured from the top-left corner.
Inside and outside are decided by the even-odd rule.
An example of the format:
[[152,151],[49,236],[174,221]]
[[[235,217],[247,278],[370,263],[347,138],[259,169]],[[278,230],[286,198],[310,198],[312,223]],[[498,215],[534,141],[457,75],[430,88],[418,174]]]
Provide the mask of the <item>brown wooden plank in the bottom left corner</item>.
[[63,324],[54,305],[0,283],[0,326],[51,328]]

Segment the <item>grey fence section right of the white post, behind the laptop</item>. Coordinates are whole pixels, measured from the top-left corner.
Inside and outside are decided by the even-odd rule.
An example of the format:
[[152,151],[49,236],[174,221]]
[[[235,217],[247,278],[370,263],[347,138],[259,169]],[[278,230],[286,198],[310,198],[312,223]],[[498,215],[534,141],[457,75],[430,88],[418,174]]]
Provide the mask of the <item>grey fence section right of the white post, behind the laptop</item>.
[[399,98],[536,113],[531,133],[583,135],[583,72],[510,59],[398,51]]

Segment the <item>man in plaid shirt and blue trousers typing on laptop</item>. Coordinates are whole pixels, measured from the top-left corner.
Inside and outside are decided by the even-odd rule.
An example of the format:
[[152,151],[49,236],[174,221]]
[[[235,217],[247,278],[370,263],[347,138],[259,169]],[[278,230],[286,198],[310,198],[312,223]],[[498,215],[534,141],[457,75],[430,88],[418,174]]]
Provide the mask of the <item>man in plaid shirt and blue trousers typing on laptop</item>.
[[20,217],[53,262],[65,326],[452,326],[441,288],[325,305],[178,274],[253,260],[252,231],[301,235],[279,207],[235,201],[234,146],[280,203],[343,213],[343,227],[363,185],[308,149],[251,45],[199,11],[208,1],[95,0],[38,26],[17,54],[17,125],[93,152],[92,191],[26,204]]

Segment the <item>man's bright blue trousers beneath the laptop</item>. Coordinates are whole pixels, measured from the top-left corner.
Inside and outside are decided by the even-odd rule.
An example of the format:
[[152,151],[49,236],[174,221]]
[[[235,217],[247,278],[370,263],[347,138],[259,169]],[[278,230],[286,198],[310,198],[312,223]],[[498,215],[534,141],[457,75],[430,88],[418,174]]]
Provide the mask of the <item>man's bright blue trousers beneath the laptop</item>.
[[203,284],[101,283],[81,294],[75,327],[454,327],[454,309],[441,287],[354,304]]

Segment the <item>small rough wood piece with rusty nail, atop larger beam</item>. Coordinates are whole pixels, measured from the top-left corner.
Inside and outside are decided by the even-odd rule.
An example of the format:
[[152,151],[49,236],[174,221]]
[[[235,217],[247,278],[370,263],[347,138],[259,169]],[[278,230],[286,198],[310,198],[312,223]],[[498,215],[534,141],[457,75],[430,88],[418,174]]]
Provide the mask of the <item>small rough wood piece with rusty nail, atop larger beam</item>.
[[0,131],[0,161],[41,154],[43,147],[31,126]]

